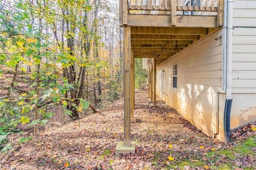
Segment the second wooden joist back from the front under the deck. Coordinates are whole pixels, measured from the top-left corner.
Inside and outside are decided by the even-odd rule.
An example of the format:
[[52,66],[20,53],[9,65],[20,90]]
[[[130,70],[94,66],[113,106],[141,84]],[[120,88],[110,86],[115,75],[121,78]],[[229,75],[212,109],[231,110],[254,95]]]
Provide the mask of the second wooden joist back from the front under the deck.
[[163,40],[197,40],[198,35],[162,35],[162,34],[132,34],[132,39],[163,39]]

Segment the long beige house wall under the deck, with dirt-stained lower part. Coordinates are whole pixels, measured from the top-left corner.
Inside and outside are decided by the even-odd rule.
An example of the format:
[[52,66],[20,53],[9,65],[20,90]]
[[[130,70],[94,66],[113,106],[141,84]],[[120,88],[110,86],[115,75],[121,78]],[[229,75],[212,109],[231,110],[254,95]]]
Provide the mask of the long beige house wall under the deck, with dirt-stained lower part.
[[[173,88],[173,64],[178,87]],[[222,30],[202,39],[157,67],[157,95],[209,136],[218,132],[222,86]]]

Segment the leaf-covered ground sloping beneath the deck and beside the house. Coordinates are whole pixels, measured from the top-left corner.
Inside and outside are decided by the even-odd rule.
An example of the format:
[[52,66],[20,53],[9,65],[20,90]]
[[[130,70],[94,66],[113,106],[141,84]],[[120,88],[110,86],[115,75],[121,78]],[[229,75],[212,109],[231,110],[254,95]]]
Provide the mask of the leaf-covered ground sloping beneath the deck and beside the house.
[[153,107],[146,96],[146,92],[135,95],[134,154],[115,156],[116,144],[123,140],[123,101],[118,100],[75,122],[63,123],[57,114],[27,143],[18,141],[31,134],[10,135],[13,150],[0,155],[0,160],[6,158],[0,169],[256,168],[255,123],[238,129],[233,141],[224,144],[198,131],[164,102]]

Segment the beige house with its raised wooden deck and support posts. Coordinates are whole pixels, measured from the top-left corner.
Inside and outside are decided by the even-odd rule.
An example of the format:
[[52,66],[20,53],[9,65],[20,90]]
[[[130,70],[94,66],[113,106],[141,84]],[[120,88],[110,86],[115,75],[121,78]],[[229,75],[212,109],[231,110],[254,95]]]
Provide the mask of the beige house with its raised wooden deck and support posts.
[[134,58],[148,63],[150,100],[162,98],[205,134],[256,120],[256,1],[120,1],[124,27],[124,142],[134,152],[131,121]]

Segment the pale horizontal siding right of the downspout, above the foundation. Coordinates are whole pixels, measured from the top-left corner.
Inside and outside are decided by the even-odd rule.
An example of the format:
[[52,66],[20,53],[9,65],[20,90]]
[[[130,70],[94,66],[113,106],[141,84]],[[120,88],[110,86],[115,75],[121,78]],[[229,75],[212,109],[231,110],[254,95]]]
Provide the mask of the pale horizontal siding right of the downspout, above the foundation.
[[233,8],[233,93],[256,93],[256,1]]

